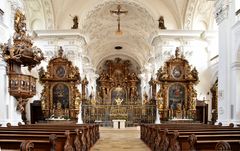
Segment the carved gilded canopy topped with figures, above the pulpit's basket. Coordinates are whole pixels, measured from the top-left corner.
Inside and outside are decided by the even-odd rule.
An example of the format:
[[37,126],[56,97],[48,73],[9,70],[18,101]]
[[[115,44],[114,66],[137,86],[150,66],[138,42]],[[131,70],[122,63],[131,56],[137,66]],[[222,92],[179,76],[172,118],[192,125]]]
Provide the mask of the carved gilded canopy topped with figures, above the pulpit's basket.
[[6,62],[28,66],[31,70],[44,59],[41,49],[32,46],[31,37],[27,35],[26,18],[19,10],[16,11],[14,20],[15,33],[13,36],[13,46],[10,42],[8,44],[1,44],[0,48],[3,51],[3,58]]

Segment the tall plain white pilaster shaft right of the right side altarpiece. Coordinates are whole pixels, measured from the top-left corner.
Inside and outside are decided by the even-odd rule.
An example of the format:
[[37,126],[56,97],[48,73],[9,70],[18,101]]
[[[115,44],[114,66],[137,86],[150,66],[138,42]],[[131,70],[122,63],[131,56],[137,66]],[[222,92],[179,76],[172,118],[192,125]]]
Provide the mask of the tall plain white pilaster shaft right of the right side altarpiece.
[[219,66],[218,66],[218,120],[224,125],[230,123],[230,27],[229,20],[219,24]]

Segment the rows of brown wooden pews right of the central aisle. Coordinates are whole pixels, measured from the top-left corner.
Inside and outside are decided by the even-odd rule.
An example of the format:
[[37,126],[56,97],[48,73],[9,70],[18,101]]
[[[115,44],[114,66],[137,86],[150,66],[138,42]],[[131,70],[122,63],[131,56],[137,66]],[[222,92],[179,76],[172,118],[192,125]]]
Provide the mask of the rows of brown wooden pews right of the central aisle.
[[[239,149],[240,147],[239,128],[200,124],[179,125],[141,125],[141,139],[152,150],[166,150],[166,148],[169,148],[170,150],[177,150],[178,148],[181,148],[182,150],[191,150],[191,147],[196,148],[197,150],[206,149],[207,147],[208,149],[214,150],[219,141],[228,142],[233,146],[233,150],[236,148]],[[169,129],[166,129],[167,127]],[[192,143],[193,139],[189,138],[189,135],[191,134],[195,134],[196,136],[197,141],[194,145]],[[191,143],[192,145],[190,145]]]

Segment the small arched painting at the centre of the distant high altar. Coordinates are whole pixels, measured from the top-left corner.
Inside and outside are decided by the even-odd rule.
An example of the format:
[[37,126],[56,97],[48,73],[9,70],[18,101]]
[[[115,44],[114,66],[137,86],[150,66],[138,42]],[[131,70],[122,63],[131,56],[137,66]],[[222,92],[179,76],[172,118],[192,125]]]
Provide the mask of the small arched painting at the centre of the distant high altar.
[[113,105],[117,104],[117,100],[121,100],[120,104],[123,104],[124,101],[126,102],[126,93],[125,90],[118,86],[112,89],[111,91],[111,101]]

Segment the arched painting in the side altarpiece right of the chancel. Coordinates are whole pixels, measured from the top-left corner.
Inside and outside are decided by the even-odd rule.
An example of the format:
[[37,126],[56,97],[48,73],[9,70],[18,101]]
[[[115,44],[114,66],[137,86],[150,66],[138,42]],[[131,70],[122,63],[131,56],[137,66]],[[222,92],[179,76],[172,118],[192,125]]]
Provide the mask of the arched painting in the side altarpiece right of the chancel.
[[178,106],[184,105],[185,88],[183,85],[176,83],[169,87],[169,108],[176,110]]

